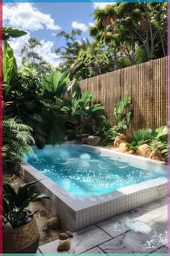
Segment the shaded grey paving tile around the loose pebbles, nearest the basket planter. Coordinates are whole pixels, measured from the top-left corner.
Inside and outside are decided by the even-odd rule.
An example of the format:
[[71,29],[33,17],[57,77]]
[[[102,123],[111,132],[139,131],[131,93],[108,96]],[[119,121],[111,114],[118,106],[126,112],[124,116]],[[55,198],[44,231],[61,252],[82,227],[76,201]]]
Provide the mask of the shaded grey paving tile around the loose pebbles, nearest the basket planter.
[[[106,242],[109,239],[111,239],[111,236],[95,225],[86,229],[81,229],[80,231],[73,233],[73,238],[70,239],[71,249],[69,249],[68,253],[79,254],[88,249],[96,247],[98,244]],[[57,239],[48,244],[44,244],[40,247],[40,250],[43,254],[56,253],[58,252],[57,247],[59,242],[61,242],[61,240]]]

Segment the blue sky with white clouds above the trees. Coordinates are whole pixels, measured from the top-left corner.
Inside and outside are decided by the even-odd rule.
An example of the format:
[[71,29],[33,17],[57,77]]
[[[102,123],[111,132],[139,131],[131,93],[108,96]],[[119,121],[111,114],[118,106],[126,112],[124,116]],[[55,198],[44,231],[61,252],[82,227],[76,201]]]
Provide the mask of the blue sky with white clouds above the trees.
[[[67,33],[79,28],[81,38],[89,38],[88,29],[93,24],[95,8],[104,8],[108,3],[15,3],[4,4],[4,26],[15,27],[27,31],[27,35],[10,40],[14,49],[18,66],[22,57],[20,51],[30,36],[40,40],[42,46],[36,51],[45,61],[58,66],[60,59],[55,48],[64,46],[63,38],[57,39],[56,33],[65,30]],[[89,38],[90,39],[90,38]]]

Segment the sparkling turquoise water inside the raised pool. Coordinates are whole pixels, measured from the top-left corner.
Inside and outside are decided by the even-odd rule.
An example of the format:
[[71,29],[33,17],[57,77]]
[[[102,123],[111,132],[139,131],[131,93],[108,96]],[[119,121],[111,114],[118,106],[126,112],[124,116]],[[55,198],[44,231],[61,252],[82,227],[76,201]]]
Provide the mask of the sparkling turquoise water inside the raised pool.
[[166,179],[166,171],[137,168],[81,145],[46,146],[34,151],[36,156],[29,156],[27,162],[70,195],[104,195],[150,179]]

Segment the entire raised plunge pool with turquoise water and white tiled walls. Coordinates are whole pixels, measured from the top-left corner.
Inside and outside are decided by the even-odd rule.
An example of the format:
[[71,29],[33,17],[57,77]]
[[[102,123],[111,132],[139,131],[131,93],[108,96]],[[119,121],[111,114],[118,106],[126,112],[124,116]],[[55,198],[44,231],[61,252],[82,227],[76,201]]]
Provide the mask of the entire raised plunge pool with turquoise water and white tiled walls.
[[166,163],[107,148],[66,143],[34,148],[22,163],[63,230],[77,231],[167,196]]

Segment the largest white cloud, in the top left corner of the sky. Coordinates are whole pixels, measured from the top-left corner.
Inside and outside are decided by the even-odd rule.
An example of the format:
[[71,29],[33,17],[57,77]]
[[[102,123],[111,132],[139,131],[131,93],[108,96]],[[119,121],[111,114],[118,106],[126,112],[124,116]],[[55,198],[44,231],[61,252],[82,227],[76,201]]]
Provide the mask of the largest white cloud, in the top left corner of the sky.
[[55,25],[55,21],[50,14],[40,12],[33,4],[5,4],[3,7],[4,25],[17,27],[22,30],[60,30],[61,27]]

